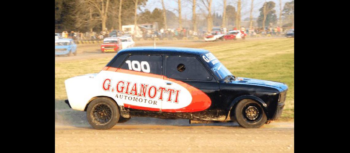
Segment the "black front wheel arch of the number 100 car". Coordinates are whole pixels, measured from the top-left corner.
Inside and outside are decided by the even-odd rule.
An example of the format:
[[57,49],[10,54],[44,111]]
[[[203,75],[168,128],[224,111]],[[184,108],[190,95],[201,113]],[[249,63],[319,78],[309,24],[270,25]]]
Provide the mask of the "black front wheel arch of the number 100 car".
[[236,105],[238,104],[239,101],[243,100],[243,99],[251,99],[251,100],[254,100],[256,102],[258,102],[258,104],[262,107],[262,109],[264,109],[264,113],[265,115],[267,115],[267,105],[266,103],[260,99],[259,97],[256,97],[254,95],[241,95],[235,99],[233,99],[233,101],[231,102],[231,105],[229,106],[230,110],[229,110],[229,113],[228,113],[228,116],[227,117],[231,117],[232,116],[232,113],[231,112],[234,112]]

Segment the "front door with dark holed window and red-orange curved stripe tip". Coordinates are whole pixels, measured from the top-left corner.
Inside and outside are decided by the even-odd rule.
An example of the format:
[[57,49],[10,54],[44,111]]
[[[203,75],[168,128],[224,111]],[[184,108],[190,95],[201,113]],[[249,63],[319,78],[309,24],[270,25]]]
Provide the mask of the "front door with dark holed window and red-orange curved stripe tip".
[[171,94],[166,94],[162,112],[191,112],[199,118],[217,114],[219,85],[196,56],[167,55],[165,81],[169,89],[175,89],[176,101],[171,101]]

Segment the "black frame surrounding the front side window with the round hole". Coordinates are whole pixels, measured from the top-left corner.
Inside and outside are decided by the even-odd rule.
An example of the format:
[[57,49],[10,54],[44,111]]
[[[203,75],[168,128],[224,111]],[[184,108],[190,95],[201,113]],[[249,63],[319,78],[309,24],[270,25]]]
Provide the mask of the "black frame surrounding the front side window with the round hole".
[[[194,80],[194,79],[176,79],[176,80],[180,80],[180,81],[198,81],[198,82],[218,82],[216,76],[214,76],[212,74],[212,72],[210,70],[208,70],[208,67],[205,66],[205,64],[203,63],[202,60],[200,60],[196,55],[187,55],[187,54],[165,54],[163,58],[165,58],[165,60],[163,60],[163,74],[165,77],[167,77],[167,72],[166,72],[166,67],[167,67],[167,56],[192,56],[195,57],[203,66],[203,68],[208,72],[208,74],[211,76],[211,80]],[[167,77],[168,78],[168,77]],[[173,78],[171,78],[173,79]]]

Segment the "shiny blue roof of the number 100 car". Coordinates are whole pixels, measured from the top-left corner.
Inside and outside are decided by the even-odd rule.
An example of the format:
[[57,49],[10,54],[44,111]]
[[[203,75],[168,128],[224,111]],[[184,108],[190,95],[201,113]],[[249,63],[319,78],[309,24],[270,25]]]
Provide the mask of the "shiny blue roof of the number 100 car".
[[122,49],[118,54],[122,53],[159,53],[159,54],[192,54],[201,55],[209,53],[205,49],[186,48],[186,47],[131,47]]

